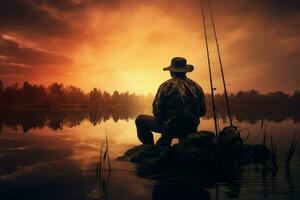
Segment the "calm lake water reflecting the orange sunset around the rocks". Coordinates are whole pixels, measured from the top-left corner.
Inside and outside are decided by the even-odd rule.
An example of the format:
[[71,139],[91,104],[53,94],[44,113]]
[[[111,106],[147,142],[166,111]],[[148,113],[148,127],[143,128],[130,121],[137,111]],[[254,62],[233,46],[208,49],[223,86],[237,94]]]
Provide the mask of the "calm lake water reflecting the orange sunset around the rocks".
[[[133,163],[115,160],[140,142],[134,119],[149,108],[110,109],[89,112],[1,111],[0,199],[300,199],[300,149],[297,146],[290,170],[283,164],[277,173],[261,166],[244,167],[239,174],[216,181],[195,177],[147,177]],[[300,131],[299,110],[236,110],[235,125],[248,143],[262,143],[261,121],[284,155],[295,131]],[[228,125],[220,114],[220,127]],[[199,129],[213,130],[208,114]],[[107,134],[112,160],[111,173],[96,175],[99,149]],[[156,135],[156,139],[158,135]],[[176,142],[176,141],[174,141]],[[282,160],[282,159],[281,159]],[[187,198],[188,199],[188,198]]]

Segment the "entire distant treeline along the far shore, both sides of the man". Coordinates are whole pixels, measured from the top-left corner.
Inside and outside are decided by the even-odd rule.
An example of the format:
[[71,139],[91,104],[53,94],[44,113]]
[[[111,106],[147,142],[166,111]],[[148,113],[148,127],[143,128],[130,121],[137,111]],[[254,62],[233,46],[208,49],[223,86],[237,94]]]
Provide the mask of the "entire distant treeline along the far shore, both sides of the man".
[[[97,88],[84,92],[75,86],[64,86],[60,83],[43,85],[31,84],[27,81],[19,86],[17,83],[4,87],[0,80],[1,105],[35,105],[35,106],[150,106],[152,95],[137,95],[129,92],[114,91],[109,93]],[[218,107],[225,107],[224,94],[217,94],[215,101]],[[257,90],[239,91],[229,95],[232,107],[255,108],[261,106],[300,106],[300,91],[286,94],[282,91],[262,94]],[[211,105],[211,96],[206,94],[206,103]]]

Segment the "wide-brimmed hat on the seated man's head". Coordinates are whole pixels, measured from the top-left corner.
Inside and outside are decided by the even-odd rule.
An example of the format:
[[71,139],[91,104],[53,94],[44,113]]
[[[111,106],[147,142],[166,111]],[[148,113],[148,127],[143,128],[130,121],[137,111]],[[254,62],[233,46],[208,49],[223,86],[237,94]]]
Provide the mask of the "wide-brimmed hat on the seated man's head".
[[163,68],[163,70],[171,72],[191,72],[194,70],[194,66],[187,64],[185,58],[175,57],[171,60],[171,65]]

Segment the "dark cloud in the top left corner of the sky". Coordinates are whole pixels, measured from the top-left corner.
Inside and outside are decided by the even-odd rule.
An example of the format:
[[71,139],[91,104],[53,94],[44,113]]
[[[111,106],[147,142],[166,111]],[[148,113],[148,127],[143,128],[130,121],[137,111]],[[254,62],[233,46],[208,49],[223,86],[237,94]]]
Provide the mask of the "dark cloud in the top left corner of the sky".
[[43,34],[48,37],[68,37],[76,32],[67,22],[26,0],[0,1],[0,30]]

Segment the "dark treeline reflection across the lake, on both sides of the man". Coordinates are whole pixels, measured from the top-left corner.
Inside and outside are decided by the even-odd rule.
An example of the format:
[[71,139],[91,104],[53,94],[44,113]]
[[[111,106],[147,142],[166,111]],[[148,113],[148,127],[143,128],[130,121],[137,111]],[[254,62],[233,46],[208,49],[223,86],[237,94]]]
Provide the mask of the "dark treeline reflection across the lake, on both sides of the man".
[[[246,122],[256,124],[262,119],[270,122],[282,122],[292,119],[294,123],[300,122],[300,112],[297,110],[233,110],[233,117],[238,123]],[[48,127],[52,130],[61,130],[63,127],[79,126],[84,120],[93,125],[100,124],[109,119],[114,122],[119,120],[134,119],[139,113],[151,113],[150,108],[116,108],[102,110],[86,109],[61,109],[56,111],[44,110],[10,110],[0,111],[0,132],[2,126],[17,129],[21,127],[23,132],[30,129]],[[227,121],[226,110],[219,110],[219,116],[223,123]],[[208,112],[204,119],[211,119],[212,113]]]

